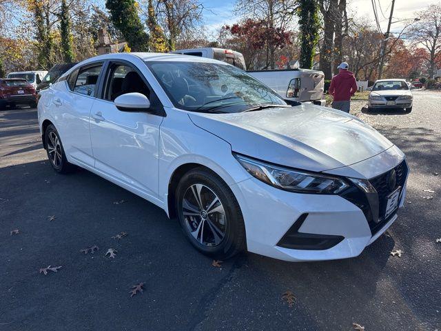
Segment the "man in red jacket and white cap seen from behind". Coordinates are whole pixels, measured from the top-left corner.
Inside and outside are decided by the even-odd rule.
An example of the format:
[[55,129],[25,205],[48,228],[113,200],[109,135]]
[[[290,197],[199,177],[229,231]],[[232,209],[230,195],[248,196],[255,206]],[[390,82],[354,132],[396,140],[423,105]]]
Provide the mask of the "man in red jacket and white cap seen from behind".
[[339,69],[338,74],[332,77],[328,91],[334,98],[332,108],[349,112],[349,109],[351,109],[351,96],[357,92],[356,77],[347,70],[349,66],[346,62],[340,63],[340,66],[337,68]]

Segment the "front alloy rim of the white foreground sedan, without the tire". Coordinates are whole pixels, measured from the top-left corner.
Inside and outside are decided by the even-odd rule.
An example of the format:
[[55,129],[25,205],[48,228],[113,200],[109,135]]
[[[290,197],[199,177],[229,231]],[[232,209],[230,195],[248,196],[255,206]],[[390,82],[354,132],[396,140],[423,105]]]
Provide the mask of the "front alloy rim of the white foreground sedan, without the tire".
[[220,245],[227,232],[223,204],[207,185],[193,184],[185,191],[182,212],[187,230],[201,245]]

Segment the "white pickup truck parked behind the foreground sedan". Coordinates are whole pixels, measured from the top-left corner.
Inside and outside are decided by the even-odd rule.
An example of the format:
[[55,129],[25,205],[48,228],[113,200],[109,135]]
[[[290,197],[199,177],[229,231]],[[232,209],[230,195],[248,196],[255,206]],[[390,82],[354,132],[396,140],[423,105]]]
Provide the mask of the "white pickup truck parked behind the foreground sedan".
[[[207,57],[224,61],[245,70],[243,54],[223,48],[191,48],[176,50],[172,53]],[[266,86],[276,91],[280,97],[289,103],[310,102],[325,106],[323,99],[325,90],[325,74],[318,70],[307,69],[278,69],[278,70],[251,70],[247,71]]]

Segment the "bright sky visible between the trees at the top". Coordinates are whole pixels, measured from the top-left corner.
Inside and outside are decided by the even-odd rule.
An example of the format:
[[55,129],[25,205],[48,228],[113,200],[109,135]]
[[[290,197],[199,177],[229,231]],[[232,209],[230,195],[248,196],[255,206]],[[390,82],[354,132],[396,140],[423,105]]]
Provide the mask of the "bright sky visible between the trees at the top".
[[[380,27],[383,32],[387,30],[391,2],[391,0],[376,0],[378,19],[380,20]],[[238,17],[234,14],[235,0],[203,0],[202,3],[205,7],[203,17],[207,34],[214,34],[221,26],[238,21]],[[348,3],[349,12],[356,12],[358,17],[367,16],[374,22],[371,0],[349,0]],[[378,6],[378,3],[380,6]],[[413,12],[424,9],[434,3],[440,3],[440,0],[396,0],[393,10],[393,21],[413,19],[415,17]],[[391,31],[400,32],[406,23],[393,23]]]

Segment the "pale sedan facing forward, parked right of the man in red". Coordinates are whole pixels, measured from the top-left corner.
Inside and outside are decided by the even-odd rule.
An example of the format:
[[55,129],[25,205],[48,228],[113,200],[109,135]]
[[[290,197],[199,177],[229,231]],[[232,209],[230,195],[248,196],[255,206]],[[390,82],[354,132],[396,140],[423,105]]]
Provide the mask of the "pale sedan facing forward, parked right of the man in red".
[[380,79],[369,93],[368,109],[401,108],[412,111],[413,94],[404,79]]

